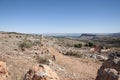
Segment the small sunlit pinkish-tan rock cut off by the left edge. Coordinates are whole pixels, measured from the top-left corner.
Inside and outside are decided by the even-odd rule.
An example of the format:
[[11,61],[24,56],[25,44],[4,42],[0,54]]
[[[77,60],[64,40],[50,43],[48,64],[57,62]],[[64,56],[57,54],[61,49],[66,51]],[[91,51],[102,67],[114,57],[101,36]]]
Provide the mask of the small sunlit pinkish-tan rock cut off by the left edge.
[[8,69],[5,62],[0,61],[0,80],[6,80],[8,77]]

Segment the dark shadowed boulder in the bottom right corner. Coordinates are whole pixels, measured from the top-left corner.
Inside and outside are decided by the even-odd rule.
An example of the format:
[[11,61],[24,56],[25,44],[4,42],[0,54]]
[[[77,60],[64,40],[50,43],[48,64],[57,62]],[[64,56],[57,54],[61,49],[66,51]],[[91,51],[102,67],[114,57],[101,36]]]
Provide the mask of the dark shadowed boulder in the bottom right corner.
[[98,70],[96,80],[120,80],[120,53],[111,53]]

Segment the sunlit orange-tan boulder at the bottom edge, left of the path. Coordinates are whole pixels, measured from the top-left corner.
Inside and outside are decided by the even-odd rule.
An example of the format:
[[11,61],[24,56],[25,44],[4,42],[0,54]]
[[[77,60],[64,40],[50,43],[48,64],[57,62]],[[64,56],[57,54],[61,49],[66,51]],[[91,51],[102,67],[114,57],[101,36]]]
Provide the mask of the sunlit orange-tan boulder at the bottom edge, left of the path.
[[60,80],[57,74],[47,65],[36,65],[25,75],[24,80]]

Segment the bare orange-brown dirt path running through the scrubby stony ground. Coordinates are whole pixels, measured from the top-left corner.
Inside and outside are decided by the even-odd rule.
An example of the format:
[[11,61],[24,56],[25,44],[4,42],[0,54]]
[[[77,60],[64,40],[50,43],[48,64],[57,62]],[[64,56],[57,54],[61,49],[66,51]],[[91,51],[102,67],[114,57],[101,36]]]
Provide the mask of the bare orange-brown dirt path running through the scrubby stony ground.
[[100,63],[92,59],[82,59],[64,56],[58,53],[52,47],[48,48],[50,53],[56,56],[56,62],[64,65],[69,73],[76,73],[77,80],[94,80],[97,75],[97,70],[101,66]]

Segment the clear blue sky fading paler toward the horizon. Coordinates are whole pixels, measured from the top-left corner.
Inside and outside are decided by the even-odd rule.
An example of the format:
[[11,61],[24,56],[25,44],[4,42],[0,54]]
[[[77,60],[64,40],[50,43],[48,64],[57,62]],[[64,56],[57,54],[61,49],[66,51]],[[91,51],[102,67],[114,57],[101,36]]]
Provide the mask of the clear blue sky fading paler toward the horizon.
[[120,32],[120,0],[0,0],[0,31]]

